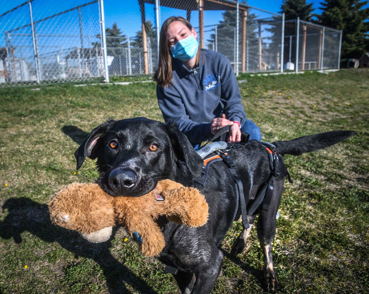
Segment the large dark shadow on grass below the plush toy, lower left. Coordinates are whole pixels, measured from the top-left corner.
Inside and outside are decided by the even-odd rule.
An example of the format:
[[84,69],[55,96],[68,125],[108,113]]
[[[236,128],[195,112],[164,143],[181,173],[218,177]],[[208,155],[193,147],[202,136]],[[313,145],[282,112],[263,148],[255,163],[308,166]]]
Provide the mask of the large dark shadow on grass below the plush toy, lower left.
[[[125,284],[131,285],[140,293],[156,294],[144,280],[111,255],[110,241],[93,244],[85,241],[75,231],[53,225],[46,204],[39,204],[28,198],[11,198],[3,205],[3,211],[5,210],[7,216],[0,222],[0,237],[13,238],[16,243],[21,243],[21,234],[28,231],[45,242],[58,242],[63,248],[74,253],[76,258],[93,259],[103,270],[110,294],[130,293]],[[113,235],[115,232],[116,230]],[[65,270],[67,269],[68,267],[65,267]]]

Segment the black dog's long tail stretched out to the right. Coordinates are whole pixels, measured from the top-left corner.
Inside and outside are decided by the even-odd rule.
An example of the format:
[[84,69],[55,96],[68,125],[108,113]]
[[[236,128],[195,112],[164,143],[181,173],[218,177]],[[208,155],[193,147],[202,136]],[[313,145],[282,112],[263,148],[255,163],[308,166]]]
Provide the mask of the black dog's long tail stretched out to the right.
[[332,146],[355,134],[356,132],[354,131],[332,131],[304,136],[290,141],[276,141],[272,144],[276,146],[277,153],[281,155],[301,155],[306,152],[316,151]]

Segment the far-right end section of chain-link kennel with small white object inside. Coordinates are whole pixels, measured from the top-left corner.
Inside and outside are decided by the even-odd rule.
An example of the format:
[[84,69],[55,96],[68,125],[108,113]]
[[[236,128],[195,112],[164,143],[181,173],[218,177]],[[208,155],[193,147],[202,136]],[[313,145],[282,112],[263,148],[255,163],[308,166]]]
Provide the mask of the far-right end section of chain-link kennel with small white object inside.
[[284,70],[339,69],[342,31],[299,18],[284,28]]

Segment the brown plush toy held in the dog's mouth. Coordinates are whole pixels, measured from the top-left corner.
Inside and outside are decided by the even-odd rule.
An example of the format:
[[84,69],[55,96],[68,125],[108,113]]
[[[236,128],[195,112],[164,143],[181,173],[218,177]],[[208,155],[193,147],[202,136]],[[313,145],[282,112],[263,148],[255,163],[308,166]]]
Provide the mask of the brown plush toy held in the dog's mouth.
[[71,183],[59,189],[48,206],[54,224],[76,230],[90,242],[107,241],[117,221],[131,237],[139,234],[141,251],[148,256],[158,255],[165,246],[154,222],[159,215],[190,227],[200,227],[208,218],[204,195],[171,180],[159,181],[141,197],[110,196],[96,183]]

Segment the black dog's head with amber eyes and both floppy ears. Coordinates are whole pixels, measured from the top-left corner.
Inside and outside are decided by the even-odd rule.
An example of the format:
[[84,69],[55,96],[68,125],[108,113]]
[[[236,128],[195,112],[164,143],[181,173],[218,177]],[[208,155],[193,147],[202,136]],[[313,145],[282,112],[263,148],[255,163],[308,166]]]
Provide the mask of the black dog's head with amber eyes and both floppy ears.
[[97,181],[113,196],[142,196],[161,179],[176,179],[178,161],[199,176],[203,160],[174,123],[146,118],[104,122],[76,150],[77,169],[96,159]]

